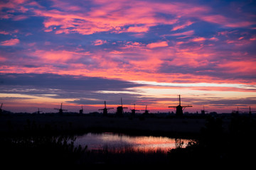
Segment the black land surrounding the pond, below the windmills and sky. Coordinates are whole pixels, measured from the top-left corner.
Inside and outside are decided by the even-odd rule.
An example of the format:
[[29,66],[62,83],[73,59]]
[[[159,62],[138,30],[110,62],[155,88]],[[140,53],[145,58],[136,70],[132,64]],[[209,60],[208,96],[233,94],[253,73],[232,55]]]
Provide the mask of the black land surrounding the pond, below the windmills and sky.
[[[252,163],[255,159],[255,115],[188,114],[115,115],[13,113],[0,116],[4,162],[20,164],[182,164],[183,162]],[[163,152],[91,152],[67,141],[86,132],[117,132],[193,139],[188,147]]]

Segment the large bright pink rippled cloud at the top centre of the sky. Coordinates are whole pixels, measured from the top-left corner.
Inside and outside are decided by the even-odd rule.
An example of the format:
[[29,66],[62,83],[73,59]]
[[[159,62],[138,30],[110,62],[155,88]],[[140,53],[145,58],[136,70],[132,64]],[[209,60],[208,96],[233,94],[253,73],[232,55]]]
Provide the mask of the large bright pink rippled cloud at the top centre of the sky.
[[[103,31],[146,33],[151,26],[178,22],[178,18],[158,16],[159,11],[180,17],[188,13],[203,13],[207,9],[206,6],[193,6],[192,4],[150,1],[136,1],[136,3],[135,1],[94,1],[94,3],[96,6],[91,7],[89,11],[76,8],[75,11],[67,9],[68,12],[64,12],[63,9],[70,7],[69,2],[65,2],[56,6],[60,8],[60,11],[58,9],[49,11],[37,9],[34,12],[38,16],[46,17],[44,21],[46,28],[60,26],[56,33],[77,32],[89,35]],[[178,30],[191,24],[192,22],[188,21],[174,29]],[[129,27],[124,29],[125,26]]]

